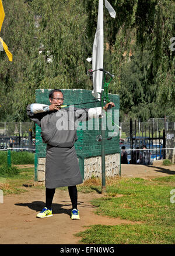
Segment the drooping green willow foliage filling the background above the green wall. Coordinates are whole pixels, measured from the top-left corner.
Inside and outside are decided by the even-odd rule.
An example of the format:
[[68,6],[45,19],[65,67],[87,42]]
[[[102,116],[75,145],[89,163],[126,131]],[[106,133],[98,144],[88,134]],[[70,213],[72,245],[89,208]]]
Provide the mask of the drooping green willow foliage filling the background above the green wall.
[[[13,54],[0,52],[1,120],[26,121],[37,88],[92,90],[98,0],[4,0],[1,37]],[[175,4],[168,0],[110,0],[104,8],[104,69],[114,73],[109,92],[120,94],[125,117],[175,119],[174,53],[170,38]],[[48,62],[52,60],[52,62]]]

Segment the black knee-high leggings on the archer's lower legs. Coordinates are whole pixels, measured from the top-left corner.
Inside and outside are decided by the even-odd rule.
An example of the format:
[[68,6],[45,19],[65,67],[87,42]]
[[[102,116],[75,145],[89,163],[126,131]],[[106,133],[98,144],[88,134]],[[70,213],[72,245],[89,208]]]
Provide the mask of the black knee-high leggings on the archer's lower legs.
[[[72,203],[72,209],[77,209],[77,189],[76,186],[68,187],[69,196]],[[55,189],[47,189],[46,188],[46,207],[51,210],[53,198],[55,194]]]

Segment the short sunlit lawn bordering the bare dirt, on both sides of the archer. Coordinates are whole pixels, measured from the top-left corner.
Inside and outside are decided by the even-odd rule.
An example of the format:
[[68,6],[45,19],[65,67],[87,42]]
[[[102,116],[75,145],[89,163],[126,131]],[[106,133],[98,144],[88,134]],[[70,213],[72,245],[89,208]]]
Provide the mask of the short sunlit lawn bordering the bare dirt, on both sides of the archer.
[[[32,184],[34,168],[19,169],[12,176],[0,173],[3,194],[23,193],[23,184]],[[34,186],[44,189],[44,186]],[[78,185],[78,192],[101,192],[101,180],[93,178]],[[61,190],[67,187],[60,188]],[[114,226],[93,225],[76,234],[84,244],[175,244],[174,203],[170,202],[175,189],[175,176],[155,179],[107,178],[107,193],[92,200],[95,213],[111,218],[132,221]],[[92,195],[92,196],[91,196]],[[175,200],[174,200],[175,201]]]

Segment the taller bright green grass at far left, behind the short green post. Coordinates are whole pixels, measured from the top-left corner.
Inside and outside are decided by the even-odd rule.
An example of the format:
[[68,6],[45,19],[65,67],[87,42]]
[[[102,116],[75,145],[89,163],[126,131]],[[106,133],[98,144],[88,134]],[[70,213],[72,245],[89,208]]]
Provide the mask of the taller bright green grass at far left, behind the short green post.
[[[7,163],[7,151],[0,152],[0,165]],[[12,165],[27,165],[34,164],[34,153],[27,151],[11,151],[11,162]]]

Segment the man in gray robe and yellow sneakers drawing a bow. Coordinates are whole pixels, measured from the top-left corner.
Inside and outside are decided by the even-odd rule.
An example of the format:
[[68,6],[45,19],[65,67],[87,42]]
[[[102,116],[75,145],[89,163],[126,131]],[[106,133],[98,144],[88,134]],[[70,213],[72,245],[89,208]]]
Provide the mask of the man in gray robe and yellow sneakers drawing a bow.
[[[72,203],[71,219],[80,219],[77,209],[78,193],[76,185],[82,183],[74,143],[76,121],[86,121],[92,117],[101,117],[107,111],[110,102],[101,108],[61,108],[64,95],[61,90],[51,90],[50,105],[27,105],[27,115],[41,127],[41,137],[47,144],[46,151],[46,207],[37,214],[38,218],[53,216],[51,205],[56,187],[68,186]],[[63,124],[63,125],[62,125]]]

